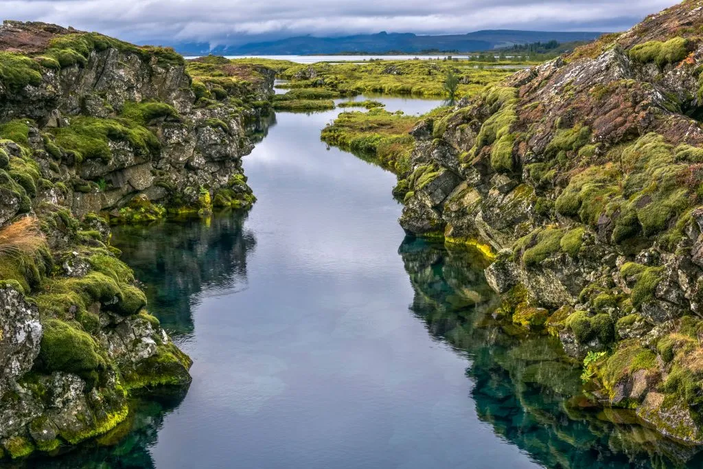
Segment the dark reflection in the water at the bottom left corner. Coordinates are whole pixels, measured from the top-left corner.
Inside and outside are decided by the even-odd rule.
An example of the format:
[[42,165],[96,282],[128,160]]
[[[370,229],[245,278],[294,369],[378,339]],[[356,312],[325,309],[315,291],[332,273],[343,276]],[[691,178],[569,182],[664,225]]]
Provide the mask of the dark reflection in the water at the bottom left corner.
[[61,456],[32,458],[8,468],[155,468],[149,448],[157,442],[164,419],[181,404],[186,392],[149,394],[148,400],[134,401],[127,420],[105,435]]

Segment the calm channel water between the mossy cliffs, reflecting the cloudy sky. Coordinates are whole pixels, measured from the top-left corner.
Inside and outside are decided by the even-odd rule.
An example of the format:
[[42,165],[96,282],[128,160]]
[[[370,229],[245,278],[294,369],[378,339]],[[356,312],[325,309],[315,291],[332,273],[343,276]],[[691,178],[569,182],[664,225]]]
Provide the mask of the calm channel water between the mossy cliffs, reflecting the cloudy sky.
[[496,323],[476,252],[405,238],[395,177],[320,141],[339,112],[254,129],[248,214],[115,229],[193,384],[37,465],[700,467],[696,449],[590,408],[558,342]]

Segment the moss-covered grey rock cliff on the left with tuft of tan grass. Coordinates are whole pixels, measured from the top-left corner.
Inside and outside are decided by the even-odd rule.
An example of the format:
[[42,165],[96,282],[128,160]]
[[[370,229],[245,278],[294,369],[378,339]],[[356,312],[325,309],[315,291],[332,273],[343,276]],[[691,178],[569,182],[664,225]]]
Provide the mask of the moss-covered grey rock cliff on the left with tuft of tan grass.
[[127,418],[134,393],[191,382],[109,222],[254,202],[244,126],[273,71],[207,60],[0,27],[0,459],[58,454]]

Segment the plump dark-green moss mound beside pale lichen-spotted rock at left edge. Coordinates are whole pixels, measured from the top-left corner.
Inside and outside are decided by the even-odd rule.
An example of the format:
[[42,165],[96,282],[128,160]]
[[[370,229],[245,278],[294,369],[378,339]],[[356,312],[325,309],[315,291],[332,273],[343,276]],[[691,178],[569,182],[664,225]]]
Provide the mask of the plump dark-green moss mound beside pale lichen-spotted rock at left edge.
[[105,368],[105,360],[90,335],[58,319],[46,319],[42,326],[44,335],[38,358],[41,368],[69,373]]

